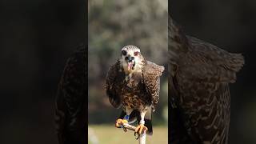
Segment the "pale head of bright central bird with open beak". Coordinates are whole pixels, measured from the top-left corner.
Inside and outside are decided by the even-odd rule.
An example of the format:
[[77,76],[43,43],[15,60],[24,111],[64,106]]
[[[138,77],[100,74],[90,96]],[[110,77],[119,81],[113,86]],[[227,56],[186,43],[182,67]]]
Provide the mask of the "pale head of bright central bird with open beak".
[[119,58],[121,66],[126,74],[133,73],[136,70],[142,70],[141,50],[136,46],[125,46],[122,48],[121,58]]

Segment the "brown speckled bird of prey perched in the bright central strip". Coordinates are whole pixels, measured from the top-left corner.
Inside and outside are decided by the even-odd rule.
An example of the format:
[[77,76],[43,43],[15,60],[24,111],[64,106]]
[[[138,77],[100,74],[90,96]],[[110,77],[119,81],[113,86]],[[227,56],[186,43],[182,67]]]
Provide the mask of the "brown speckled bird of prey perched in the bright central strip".
[[153,134],[151,112],[159,100],[160,76],[164,70],[143,58],[136,46],[122,48],[118,61],[106,75],[106,94],[115,108],[122,106],[116,127],[137,119],[135,133]]

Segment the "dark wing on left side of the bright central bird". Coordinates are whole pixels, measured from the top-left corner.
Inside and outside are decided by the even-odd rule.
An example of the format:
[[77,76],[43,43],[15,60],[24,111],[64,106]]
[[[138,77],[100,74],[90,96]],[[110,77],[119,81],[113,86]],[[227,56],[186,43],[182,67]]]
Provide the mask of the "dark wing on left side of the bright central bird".
[[116,84],[116,79],[118,78],[119,62],[116,62],[113,66],[110,66],[109,71],[106,74],[106,94],[109,97],[110,103],[115,108],[121,106],[121,99],[116,91],[114,85]]

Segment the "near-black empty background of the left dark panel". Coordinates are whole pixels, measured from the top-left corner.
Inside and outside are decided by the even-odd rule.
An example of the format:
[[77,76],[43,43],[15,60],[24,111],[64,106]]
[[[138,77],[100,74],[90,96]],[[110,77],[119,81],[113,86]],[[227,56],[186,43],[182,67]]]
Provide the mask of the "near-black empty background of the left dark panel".
[[85,42],[82,0],[0,1],[0,143],[56,144],[54,99]]

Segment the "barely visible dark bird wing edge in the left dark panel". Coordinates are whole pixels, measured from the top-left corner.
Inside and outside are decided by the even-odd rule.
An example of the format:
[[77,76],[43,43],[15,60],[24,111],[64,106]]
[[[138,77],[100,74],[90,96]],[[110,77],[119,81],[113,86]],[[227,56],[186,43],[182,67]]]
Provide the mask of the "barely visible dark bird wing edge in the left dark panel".
[[58,84],[55,122],[59,144],[86,143],[86,48],[68,58]]

